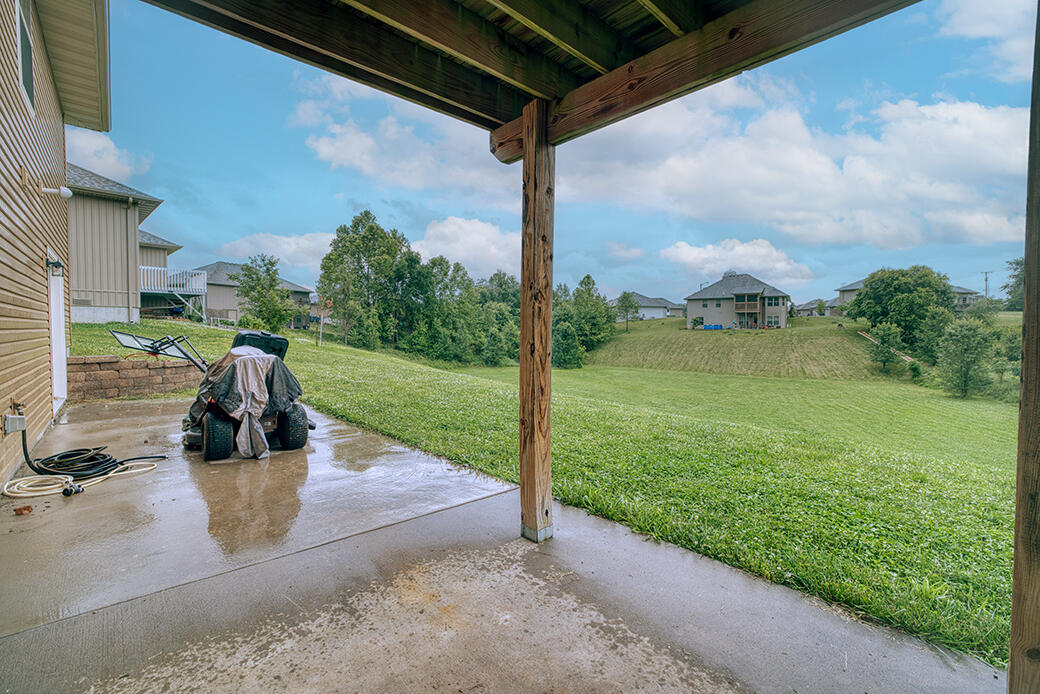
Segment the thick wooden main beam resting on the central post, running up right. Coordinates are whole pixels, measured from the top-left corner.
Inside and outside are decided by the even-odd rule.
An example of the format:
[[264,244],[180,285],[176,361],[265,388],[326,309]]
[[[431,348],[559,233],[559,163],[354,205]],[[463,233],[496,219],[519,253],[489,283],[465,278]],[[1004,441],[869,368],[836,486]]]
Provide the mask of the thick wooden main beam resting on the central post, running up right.
[[[753,0],[565,96],[549,110],[549,142],[566,143],[917,1]],[[522,148],[520,119],[491,132],[500,161],[516,161]]]

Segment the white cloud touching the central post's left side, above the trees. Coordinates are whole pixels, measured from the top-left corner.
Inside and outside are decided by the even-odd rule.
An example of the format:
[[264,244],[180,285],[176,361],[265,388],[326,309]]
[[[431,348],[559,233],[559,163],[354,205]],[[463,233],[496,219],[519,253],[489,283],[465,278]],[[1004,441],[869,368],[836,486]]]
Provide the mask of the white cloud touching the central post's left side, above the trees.
[[430,260],[442,255],[460,262],[474,278],[485,278],[502,269],[520,273],[520,232],[505,232],[480,220],[449,216],[426,226],[426,234],[412,248]]

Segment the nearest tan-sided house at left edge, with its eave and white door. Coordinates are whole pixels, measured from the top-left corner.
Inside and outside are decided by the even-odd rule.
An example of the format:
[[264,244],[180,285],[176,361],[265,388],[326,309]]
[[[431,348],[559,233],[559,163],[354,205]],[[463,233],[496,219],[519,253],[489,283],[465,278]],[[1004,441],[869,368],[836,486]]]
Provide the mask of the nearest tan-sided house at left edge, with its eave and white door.
[[[64,126],[109,129],[106,0],[0,2],[0,410],[23,405],[30,445],[68,393]],[[0,480],[22,459],[0,433]]]

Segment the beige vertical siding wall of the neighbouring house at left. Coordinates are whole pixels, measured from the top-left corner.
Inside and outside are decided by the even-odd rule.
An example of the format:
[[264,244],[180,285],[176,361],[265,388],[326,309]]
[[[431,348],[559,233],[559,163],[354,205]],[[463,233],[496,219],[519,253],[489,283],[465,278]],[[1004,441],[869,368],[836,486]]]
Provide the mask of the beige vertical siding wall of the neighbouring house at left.
[[126,201],[83,194],[69,201],[74,306],[140,308],[136,220],[136,205],[128,210]]

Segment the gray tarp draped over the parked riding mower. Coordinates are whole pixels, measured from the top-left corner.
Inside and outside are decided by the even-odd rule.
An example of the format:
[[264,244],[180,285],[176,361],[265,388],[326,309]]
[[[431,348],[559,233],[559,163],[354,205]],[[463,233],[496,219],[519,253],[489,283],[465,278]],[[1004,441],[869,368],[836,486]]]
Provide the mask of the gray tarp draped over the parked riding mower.
[[285,412],[303,394],[300,382],[281,359],[252,346],[232,348],[206,369],[185,428],[200,423],[209,401],[241,422],[235,445],[243,458],[266,458],[260,418]]

